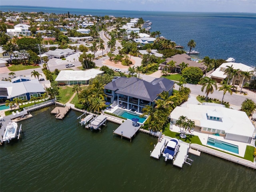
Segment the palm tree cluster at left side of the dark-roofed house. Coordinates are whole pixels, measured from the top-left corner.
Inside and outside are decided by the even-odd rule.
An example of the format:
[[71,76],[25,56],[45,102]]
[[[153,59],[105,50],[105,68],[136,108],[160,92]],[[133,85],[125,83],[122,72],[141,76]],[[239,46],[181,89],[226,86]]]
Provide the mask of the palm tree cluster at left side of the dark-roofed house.
[[105,106],[104,86],[98,79],[90,80],[87,89],[82,90],[78,95],[80,104],[84,105],[84,108],[92,112],[100,112]]

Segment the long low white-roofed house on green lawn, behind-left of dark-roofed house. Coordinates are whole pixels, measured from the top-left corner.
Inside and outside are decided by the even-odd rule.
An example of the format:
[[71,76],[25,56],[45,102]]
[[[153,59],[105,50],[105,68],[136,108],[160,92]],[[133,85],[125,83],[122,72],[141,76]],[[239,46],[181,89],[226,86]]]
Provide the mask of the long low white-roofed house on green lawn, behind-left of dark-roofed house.
[[103,71],[97,69],[88,70],[62,70],[56,77],[55,81],[59,83],[65,83],[66,85],[74,84],[89,84],[89,80],[95,78],[99,74],[103,74]]

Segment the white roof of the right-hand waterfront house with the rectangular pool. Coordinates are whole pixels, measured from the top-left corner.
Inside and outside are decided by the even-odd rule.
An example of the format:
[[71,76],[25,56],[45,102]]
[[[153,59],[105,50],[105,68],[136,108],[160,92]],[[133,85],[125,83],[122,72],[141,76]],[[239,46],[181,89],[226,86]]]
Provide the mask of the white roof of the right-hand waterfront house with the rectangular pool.
[[[216,112],[214,111],[216,110]],[[221,121],[208,120],[207,113],[222,116]],[[171,112],[171,118],[177,120],[180,116],[193,120],[196,126],[224,130],[229,134],[252,137],[254,126],[245,112],[218,106],[187,104],[186,107],[177,106]]]

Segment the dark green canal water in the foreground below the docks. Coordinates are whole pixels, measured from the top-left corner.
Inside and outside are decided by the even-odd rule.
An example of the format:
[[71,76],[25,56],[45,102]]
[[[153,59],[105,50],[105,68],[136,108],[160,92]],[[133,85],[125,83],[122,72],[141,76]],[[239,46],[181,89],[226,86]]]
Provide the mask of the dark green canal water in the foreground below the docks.
[[0,147],[0,191],[6,192],[252,192],[256,171],[203,154],[183,169],[150,158],[157,138],[136,134],[132,142],[113,136],[118,124],[101,132],[82,128],[81,114],[64,120],[53,106],[31,112],[22,140]]

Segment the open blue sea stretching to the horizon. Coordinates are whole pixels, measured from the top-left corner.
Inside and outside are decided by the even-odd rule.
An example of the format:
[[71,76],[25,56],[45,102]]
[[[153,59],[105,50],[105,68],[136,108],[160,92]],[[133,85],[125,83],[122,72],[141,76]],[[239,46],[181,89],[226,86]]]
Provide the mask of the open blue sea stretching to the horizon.
[[154,12],[124,10],[90,10],[27,6],[1,6],[1,11],[48,12],[94,16],[142,17],[153,24],[152,31],[173,40],[188,50],[194,39],[198,58],[216,59],[233,57],[236,62],[256,65],[256,14],[255,13],[206,13],[206,12]]

